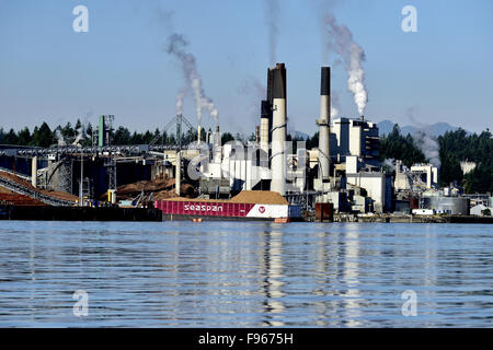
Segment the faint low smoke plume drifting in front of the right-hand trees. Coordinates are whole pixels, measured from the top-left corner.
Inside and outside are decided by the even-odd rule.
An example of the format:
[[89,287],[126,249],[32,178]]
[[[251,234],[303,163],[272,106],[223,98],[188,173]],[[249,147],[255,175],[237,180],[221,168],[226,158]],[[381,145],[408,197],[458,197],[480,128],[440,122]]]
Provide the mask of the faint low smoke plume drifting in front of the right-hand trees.
[[429,132],[429,126],[417,121],[417,107],[409,107],[405,110],[408,118],[412,124],[419,127],[419,130],[412,135],[414,144],[423,152],[425,158],[436,167],[440,167],[439,144],[434,136]]

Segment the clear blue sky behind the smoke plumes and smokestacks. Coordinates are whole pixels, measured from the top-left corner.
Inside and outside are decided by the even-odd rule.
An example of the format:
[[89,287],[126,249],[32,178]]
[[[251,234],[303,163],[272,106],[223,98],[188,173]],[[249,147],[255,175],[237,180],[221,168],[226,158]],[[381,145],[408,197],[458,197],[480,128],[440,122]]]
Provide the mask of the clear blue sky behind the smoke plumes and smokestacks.
[[[276,61],[287,67],[289,129],[317,130],[320,66],[333,66],[341,116],[357,116],[347,73],[324,54],[320,20],[329,11],[365,50],[367,119],[409,125],[413,107],[416,122],[493,129],[493,1],[278,2],[271,20]],[[78,4],[89,9],[89,33],[72,30]],[[417,10],[417,33],[401,30],[406,4]],[[172,11],[171,23],[157,9]],[[162,128],[184,85],[163,49],[172,28],[190,42],[222,130],[251,133],[260,112],[255,82],[265,84],[271,63],[265,9],[265,0],[0,0],[0,126],[95,124],[114,114],[130,130]],[[184,114],[196,122],[191,96]],[[203,124],[214,121],[205,115]]]

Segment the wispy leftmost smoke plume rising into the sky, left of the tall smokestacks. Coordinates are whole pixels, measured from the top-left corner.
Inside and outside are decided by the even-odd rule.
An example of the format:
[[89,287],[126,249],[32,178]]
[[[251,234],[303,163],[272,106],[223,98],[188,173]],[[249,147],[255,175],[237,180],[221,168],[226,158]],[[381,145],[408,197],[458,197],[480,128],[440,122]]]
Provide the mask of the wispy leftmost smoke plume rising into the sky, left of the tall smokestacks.
[[[185,81],[187,83],[187,86],[193,92],[198,122],[200,124],[202,113],[204,109],[206,109],[217,124],[219,121],[219,112],[214,105],[213,100],[209,98],[204,92],[202,78],[197,70],[195,56],[186,51],[187,46],[188,43],[185,40],[183,35],[173,33],[168,37],[167,52],[179,59],[180,63],[182,65]],[[180,98],[177,100],[180,101]],[[183,102],[183,98],[181,100],[181,102]]]

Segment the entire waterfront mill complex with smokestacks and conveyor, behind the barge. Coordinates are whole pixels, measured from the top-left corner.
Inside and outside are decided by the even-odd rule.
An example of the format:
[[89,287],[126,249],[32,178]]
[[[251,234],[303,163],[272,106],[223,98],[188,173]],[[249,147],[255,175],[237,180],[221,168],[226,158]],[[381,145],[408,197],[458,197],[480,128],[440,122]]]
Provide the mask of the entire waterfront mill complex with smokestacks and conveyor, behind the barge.
[[[196,141],[185,142],[183,128],[195,127],[177,115],[164,127],[176,128],[175,144],[117,145],[112,140],[114,116],[105,115],[99,118],[91,136],[92,147],[1,147],[0,166],[30,184],[13,184],[0,177],[0,185],[57,206],[88,206],[104,198],[127,207],[153,202],[157,208],[173,211],[177,207],[168,202],[173,198],[187,197],[187,208],[195,208],[194,201],[211,206],[226,203],[242,192],[263,191],[267,196],[270,191],[289,203],[283,203],[283,210],[274,212],[297,212],[297,215],[300,209],[310,212],[316,206],[325,205],[331,206],[331,213],[422,209],[469,214],[469,200],[454,188],[438,191],[438,168],[432,164],[406,168],[398,160],[394,178],[386,173],[379,161],[375,122],[364,116],[331,119],[330,67],[320,71],[320,115],[312,120],[319,128],[318,147],[307,149],[305,142],[296,145],[287,142],[287,68],[277,63],[266,73],[266,96],[260,101],[253,141],[221,144],[219,126],[207,131],[205,138],[197,126]],[[130,185],[125,187],[127,184]],[[50,192],[72,197],[61,200]],[[179,211],[183,214],[184,205],[180,200],[173,202],[180,203]],[[237,210],[241,207],[237,205],[225,208]],[[248,205],[250,209],[274,206]],[[320,208],[321,212],[328,210]],[[263,212],[251,215],[271,218]]]

